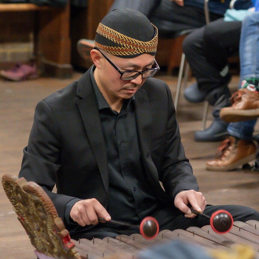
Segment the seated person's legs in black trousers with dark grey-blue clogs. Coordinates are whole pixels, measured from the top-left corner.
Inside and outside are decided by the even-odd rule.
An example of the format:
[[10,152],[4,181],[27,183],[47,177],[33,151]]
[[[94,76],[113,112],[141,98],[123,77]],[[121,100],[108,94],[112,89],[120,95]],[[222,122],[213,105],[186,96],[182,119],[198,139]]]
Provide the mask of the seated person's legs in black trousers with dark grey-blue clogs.
[[184,95],[188,99],[188,96],[200,94],[214,106],[214,120],[209,128],[195,133],[197,141],[218,141],[228,134],[228,124],[219,118],[219,111],[230,105],[227,84],[231,75],[227,58],[238,51],[240,33],[241,22],[225,22],[222,18],[195,30],[184,39],[183,51],[198,84],[198,88],[195,85],[187,88]]

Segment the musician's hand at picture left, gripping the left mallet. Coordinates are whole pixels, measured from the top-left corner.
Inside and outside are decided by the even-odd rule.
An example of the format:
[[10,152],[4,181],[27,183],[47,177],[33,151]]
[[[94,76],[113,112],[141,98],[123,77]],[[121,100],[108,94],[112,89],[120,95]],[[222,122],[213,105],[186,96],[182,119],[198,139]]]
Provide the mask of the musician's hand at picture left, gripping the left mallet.
[[104,218],[106,221],[111,220],[106,209],[94,198],[76,202],[70,211],[70,217],[82,227],[97,225],[98,217]]

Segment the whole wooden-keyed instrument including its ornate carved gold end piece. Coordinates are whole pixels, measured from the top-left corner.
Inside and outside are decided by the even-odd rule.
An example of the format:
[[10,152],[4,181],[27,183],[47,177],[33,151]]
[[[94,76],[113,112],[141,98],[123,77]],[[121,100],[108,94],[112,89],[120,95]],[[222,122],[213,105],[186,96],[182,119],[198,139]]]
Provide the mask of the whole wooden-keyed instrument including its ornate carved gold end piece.
[[70,239],[69,232],[58,217],[53,203],[38,184],[11,174],[2,177],[2,184],[18,215],[18,220],[29,235],[35,254],[40,259],[134,259],[142,249],[172,240],[224,249],[231,249],[236,243],[244,244],[254,249],[257,256],[259,255],[259,221],[255,220],[246,223],[235,221],[229,232],[224,234],[215,233],[211,224],[202,228],[189,227],[186,231],[162,230],[158,234],[157,227],[152,234],[155,236],[152,240],[147,240],[140,234],[133,234],[119,235],[116,239],[106,237],[76,241]]

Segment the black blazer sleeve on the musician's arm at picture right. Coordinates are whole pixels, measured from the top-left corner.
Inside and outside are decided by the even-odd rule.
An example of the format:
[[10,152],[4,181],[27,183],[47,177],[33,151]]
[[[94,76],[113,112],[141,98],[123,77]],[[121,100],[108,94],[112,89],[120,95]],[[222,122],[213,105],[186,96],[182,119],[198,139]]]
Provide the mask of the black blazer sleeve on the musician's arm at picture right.
[[166,85],[168,96],[168,126],[166,130],[166,148],[163,157],[163,167],[160,181],[170,197],[181,190],[195,190],[199,187],[193,175],[192,167],[185,156],[181,143],[179,125],[175,117],[175,107],[172,101],[172,94]]

